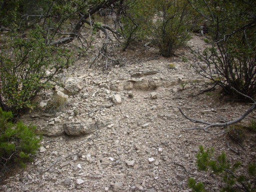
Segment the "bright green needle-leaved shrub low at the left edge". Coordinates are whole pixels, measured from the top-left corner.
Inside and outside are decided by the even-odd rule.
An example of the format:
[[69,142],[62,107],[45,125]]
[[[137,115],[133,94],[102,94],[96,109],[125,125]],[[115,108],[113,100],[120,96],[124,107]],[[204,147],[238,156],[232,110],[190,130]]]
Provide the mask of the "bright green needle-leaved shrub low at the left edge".
[[35,134],[36,127],[26,126],[22,122],[14,125],[11,122],[12,112],[0,108],[0,169],[10,161],[21,166],[36,154],[41,137]]

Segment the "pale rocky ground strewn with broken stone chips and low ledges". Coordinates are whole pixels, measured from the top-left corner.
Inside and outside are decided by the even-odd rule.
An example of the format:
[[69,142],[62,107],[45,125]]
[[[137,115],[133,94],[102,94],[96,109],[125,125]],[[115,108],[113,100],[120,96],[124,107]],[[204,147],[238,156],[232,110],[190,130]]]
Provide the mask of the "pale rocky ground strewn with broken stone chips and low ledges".
[[[188,45],[203,47],[203,39],[194,36]],[[225,151],[230,163],[241,161],[240,173],[255,162],[255,133],[249,130],[243,146],[222,128],[184,130],[202,125],[185,119],[177,107],[194,119],[221,122],[250,106],[231,104],[218,88],[198,94],[207,88],[202,86],[206,80],[191,67],[187,47],[173,58],[142,43],[118,54],[123,62],[108,70],[102,61],[88,69],[88,57],[79,59],[59,74],[65,89],[40,93],[42,108],[23,120],[44,134],[41,147],[25,170],[1,178],[0,191],[178,192],[190,191],[190,177],[204,182],[207,191],[219,191],[220,177],[197,170],[199,145],[214,147],[217,154]],[[254,111],[243,124],[255,117]],[[240,155],[229,150],[227,141]]]

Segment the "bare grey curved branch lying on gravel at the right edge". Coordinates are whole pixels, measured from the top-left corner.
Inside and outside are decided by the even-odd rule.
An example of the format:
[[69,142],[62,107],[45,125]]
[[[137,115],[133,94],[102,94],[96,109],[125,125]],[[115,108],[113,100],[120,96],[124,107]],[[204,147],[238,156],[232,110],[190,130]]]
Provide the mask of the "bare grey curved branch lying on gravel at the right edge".
[[255,110],[256,108],[256,101],[253,100],[253,98],[243,94],[243,93],[240,93],[239,91],[237,91],[236,89],[232,88],[234,91],[236,91],[238,94],[241,94],[243,95],[244,97],[250,99],[251,101],[253,101],[253,105],[251,107],[249,107],[249,109],[244,112],[240,117],[237,117],[236,119],[234,120],[231,120],[231,121],[228,121],[228,122],[225,122],[225,123],[210,123],[210,122],[206,122],[206,121],[203,121],[203,120],[195,120],[195,119],[191,119],[189,117],[187,117],[183,111],[181,111],[181,108],[178,107],[178,109],[180,110],[181,114],[188,120],[194,122],[194,123],[200,123],[200,124],[206,124],[207,126],[205,127],[195,127],[195,128],[188,128],[188,129],[184,129],[184,130],[196,130],[196,129],[200,129],[200,130],[204,130],[204,131],[207,131],[208,128],[210,127],[227,127],[227,126],[230,126],[230,125],[233,125],[233,124],[236,124],[238,122],[240,122],[241,120],[243,120],[248,114],[250,114],[253,110]]

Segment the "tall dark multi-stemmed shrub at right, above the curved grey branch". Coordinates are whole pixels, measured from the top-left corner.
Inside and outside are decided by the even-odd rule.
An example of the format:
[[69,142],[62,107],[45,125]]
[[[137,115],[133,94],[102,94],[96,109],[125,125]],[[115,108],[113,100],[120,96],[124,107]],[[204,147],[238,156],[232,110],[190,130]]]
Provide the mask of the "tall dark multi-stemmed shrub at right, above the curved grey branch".
[[[210,48],[196,52],[200,75],[238,97],[256,93],[256,1],[195,1],[190,4],[208,23]],[[207,69],[201,66],[207,64]],[[203,64],[203,65],[202,65]],[[219,80],[218,80],[219,79]]]

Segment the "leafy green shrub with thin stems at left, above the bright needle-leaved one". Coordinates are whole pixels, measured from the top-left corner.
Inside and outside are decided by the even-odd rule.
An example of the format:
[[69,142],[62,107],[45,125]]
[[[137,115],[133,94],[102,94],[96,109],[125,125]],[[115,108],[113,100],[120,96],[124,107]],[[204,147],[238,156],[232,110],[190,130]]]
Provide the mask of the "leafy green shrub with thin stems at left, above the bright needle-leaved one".
[[10,34],[0,51],[0,107],[14,114],[33,109],[36,94],[73,61],[72,52],[46,46],[39,27],[26,38]]

